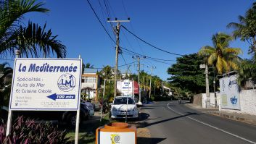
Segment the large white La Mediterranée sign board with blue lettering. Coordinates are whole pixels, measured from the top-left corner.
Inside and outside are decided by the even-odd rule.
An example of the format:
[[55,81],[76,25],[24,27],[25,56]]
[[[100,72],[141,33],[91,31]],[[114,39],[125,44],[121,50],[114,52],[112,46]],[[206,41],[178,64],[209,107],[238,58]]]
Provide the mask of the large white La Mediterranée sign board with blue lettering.
[[78,110],[81,59],[15,59],[9,109]]

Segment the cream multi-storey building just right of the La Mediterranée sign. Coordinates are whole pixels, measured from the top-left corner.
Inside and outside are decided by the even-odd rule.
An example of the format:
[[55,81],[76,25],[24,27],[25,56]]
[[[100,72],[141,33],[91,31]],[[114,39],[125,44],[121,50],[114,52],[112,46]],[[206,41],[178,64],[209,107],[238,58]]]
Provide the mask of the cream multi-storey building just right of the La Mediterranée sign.
[[81,81],[83,99],[98,101],[99,80],[95,69],[85,69]]

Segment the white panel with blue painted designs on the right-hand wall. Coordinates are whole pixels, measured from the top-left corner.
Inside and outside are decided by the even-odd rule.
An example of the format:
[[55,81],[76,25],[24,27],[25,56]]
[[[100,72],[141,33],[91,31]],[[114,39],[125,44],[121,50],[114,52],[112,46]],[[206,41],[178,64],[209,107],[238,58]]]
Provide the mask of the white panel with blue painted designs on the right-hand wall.
[[240,110],[239,85],[237,75],[220,79],[220,104],[222,109]]

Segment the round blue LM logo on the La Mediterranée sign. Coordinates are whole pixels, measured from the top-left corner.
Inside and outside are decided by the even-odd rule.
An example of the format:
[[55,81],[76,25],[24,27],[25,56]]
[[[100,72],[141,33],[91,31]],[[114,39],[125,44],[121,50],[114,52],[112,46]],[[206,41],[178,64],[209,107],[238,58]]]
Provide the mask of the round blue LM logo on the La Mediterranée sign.
[[59,77],[57,84],[58,84],[59,90],[62,90],[65,92],[73,90],[73,88],[75,88],[75,77],[71,74],[61,75]]

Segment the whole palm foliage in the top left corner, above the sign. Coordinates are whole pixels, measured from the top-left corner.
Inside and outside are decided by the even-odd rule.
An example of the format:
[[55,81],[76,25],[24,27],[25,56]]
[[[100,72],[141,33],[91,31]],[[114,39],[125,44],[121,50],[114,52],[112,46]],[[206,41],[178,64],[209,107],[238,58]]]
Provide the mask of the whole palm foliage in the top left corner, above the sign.
[[49,12],[44,3],[36,0],[0,0],[0,55],[15,55],[20,50],[22,56],[38,57],[39,52],[48,56],[51,52],[58,58],[66,56],[66,47],[56,40],[51,30],[33,22],[28,26],[20,25],[22,17],[30,12]]

